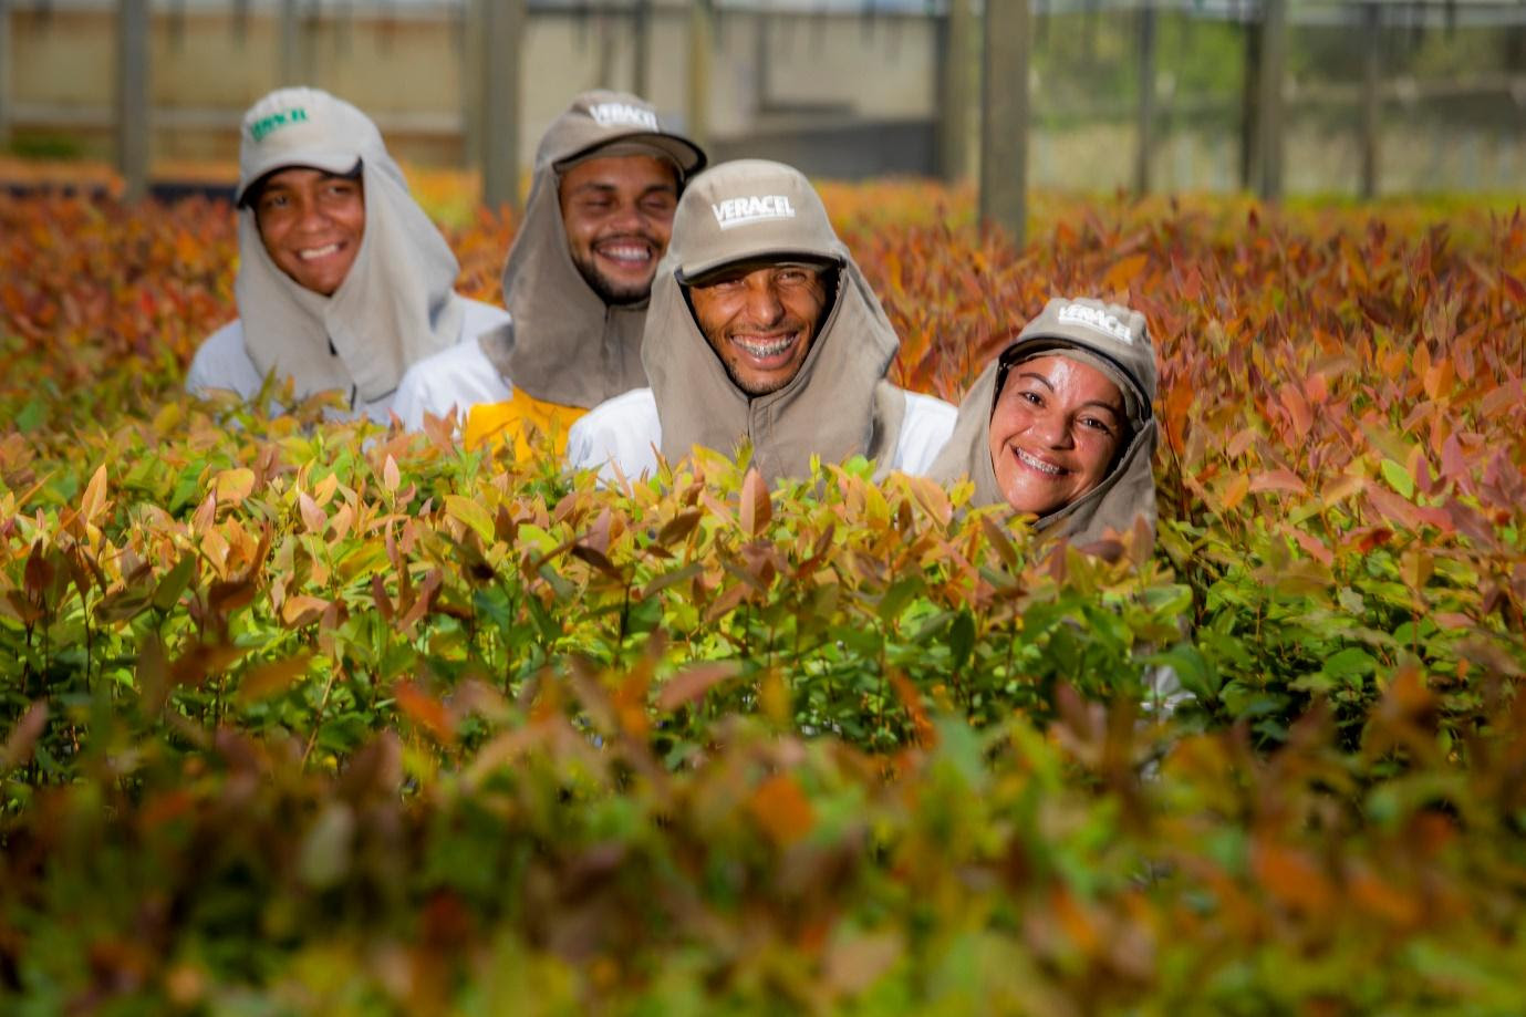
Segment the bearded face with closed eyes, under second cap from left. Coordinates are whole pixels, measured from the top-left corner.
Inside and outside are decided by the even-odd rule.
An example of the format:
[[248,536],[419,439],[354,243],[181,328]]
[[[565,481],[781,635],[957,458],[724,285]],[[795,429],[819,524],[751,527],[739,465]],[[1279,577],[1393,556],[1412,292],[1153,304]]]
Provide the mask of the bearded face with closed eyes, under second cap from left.
[[673,235],[678,171],[656,156],[603,156],[562,174],[562,226],[572,264],[606,304],[652,293]]

